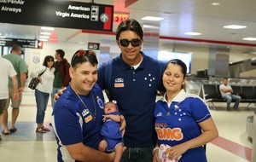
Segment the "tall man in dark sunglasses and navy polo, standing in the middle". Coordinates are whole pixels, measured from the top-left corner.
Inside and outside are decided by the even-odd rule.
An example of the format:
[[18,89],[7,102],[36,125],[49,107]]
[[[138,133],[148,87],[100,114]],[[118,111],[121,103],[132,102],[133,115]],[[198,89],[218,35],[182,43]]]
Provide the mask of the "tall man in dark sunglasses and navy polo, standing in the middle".
[[137,20],[124,20],[119,24],[116,43],[121,54],[110,61],[111,65],[106,63],[99,67],[97,84],[102,90],[108,90],[110,100],[119,103],[119,112],[125,116],[127,149],[121,161],[152,161],[156,139],[155,99],[157,90],[164,91],[161,65],[140,50],[143,29]]

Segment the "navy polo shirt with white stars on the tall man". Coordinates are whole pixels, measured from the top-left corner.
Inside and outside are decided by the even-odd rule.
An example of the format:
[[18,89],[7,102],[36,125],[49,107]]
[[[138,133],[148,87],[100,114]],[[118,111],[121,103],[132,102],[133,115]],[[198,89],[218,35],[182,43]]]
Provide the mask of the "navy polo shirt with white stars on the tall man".
[[114,58],[110,84],[104,82],[105,66],[98,69],[97,83],[109,91],[125,116],[124,142],[129,148],[154,146],[155,99],[157,90],[165,91],[161,81],[164,65],[141,53],[143,61],[137,69],[126,64],[122,55]]

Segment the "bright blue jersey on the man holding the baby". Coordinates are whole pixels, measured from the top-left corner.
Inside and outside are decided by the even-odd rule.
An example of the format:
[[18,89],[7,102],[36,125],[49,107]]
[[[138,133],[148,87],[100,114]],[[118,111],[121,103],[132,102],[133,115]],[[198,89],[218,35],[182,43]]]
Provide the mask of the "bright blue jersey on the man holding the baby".
[[[65,145],[72,145],[83,142],[84,145],[98,149],[102,138],[102,115],[104,114],[104,98],[102,90],[96,84],[88,95],[80,95],[86,106],[79,100],[79,97],[67,86],[67,90],[56,101],[52,113],[52,124],[58,144],[58,161],[71,160]],[[94,97],[94,101],[92,100]],[[95,115],[96,106],[96,119]]]

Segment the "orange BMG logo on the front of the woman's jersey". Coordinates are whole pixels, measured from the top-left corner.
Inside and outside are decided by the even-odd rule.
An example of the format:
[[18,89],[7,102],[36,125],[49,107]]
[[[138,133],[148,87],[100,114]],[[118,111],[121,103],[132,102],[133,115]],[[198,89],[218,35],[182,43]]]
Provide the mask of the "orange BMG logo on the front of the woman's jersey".
[[181,141],[183,132],[180,128],[167,128],[166,123],[156,123],[155,130],[159,140]]

